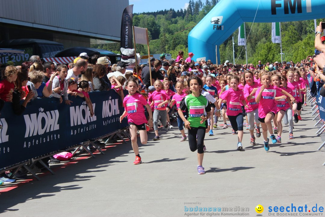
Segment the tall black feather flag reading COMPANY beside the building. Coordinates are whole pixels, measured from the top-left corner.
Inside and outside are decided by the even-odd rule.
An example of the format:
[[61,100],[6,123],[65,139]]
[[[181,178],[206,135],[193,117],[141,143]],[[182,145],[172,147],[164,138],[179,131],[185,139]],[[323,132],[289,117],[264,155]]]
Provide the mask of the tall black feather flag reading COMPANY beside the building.
[[121,47],[133,48],[132,43],[132,14],[133,5],[125,7],[121,23]]

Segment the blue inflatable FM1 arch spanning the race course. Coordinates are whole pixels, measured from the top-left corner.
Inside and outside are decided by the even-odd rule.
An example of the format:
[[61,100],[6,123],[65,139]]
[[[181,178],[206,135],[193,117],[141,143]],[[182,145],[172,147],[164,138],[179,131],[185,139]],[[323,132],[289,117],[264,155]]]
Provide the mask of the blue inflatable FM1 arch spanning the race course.
[[220,64],[219,45],[243,22],[253,22],[255,13],[255,22],[320,19],[325,0],[221,0],[188,34],[188,52],[206,60],[217,53]]

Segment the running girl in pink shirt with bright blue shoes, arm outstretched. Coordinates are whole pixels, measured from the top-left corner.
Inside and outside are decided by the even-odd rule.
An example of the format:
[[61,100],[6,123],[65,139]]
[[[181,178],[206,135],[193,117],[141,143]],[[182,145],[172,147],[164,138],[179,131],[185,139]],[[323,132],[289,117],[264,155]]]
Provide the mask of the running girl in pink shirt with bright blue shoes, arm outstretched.
[[[267,130],[270,133],[270,138],[272,143],[276,143],[277,139],[273,134],[271,120],[274,118],[274,115],[277,111],[277,107],[275,104],[275,96],[276,92],[282,92],[287,96],[291,96],[288,92],[278,88],[276,86],[270,86],[271,77],[269,74],[265,73],[261,76],[261,84],[262,86],[259,87],[255,93],[255,100],[259,103],[258,106],[258,116],[259,121],[262,125],[262,133],[264,138],[264,149],[268,151],[270,146],[268,145],[269,139],[267,138]],[[291,100],[294,98],[291,96]]]

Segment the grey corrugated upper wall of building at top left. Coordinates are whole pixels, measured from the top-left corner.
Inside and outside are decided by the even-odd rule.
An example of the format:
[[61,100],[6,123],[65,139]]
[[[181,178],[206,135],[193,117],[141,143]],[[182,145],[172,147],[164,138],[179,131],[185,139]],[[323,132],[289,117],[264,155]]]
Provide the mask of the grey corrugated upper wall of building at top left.
[[1,0],[0,23],[119,41],[128,5],[128,0]]

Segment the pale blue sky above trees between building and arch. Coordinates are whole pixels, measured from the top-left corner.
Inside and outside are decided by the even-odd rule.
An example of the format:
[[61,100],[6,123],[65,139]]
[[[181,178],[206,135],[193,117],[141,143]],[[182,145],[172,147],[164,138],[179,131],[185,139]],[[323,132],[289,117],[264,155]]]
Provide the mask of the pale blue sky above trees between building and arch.
[[154,12],[170,8],[174,8],[176,11],[187,8],[188,2],[189,0],[129,0],[129,4],[134,5],[133,13]]

